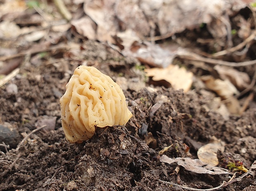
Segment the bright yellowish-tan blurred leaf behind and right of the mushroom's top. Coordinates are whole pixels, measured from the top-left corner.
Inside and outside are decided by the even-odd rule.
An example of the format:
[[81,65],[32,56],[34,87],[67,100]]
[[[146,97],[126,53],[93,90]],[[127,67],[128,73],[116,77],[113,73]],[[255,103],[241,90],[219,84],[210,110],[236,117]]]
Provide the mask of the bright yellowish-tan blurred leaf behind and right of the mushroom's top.
[[187,72],[185,68],[179,68],[178,65],[169,65],[167,68],[145,69],[145,72],[154,81],[165,80],[175,90],[183,89],[184,92],[187,92],[192,86],[193,73]]

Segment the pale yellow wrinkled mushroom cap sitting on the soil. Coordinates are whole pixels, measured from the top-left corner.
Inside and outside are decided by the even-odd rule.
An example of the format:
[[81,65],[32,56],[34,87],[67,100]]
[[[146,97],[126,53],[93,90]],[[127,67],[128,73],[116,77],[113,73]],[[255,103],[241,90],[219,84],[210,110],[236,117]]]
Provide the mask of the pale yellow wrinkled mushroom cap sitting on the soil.
[[83,142],[95,127],[125,125],[132,117],[121,87],[92,66],[74,71],[60,98],[62,127],[69,142]]

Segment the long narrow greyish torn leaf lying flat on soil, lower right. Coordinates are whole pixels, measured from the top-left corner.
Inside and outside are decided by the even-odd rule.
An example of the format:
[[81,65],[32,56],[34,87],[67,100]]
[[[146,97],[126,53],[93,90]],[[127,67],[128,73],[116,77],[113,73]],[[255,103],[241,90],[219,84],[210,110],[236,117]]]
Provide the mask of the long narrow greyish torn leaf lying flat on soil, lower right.
[[160,162],[164,163],[175,163],[183,166],[186,170],[191,172],[195,172],[197,174],[209,174],[209,175],[224,175],[224,174],[232,174],[228,170],[224,168],[215,167],[212,165],[208,165],[199,159],[191,159],[191,158],[169,158],[166,155],[160,157]]

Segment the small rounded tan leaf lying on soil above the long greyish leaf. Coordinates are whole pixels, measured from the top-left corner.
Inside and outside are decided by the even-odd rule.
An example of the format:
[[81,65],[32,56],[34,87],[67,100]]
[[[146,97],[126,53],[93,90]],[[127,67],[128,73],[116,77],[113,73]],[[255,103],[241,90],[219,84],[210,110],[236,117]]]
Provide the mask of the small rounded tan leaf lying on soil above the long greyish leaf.
[[217,158],[218,150],[224,151],[225,147],[220,143],[209,143],[200,147],[197,151],[198,158],[206,164],[217,166],[219,161]]

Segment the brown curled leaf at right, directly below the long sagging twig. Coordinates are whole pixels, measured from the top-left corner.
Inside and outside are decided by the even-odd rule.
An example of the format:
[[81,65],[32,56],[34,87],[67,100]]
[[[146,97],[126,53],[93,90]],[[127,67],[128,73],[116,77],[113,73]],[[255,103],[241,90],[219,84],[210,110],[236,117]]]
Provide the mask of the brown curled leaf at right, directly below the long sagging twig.
[[250,77],[245,72],[239,72],[234,68],[220,65],[216,65],[214,69],[218,72],[221,79],[228,79],[239,90],[244,90],[250,85]]

